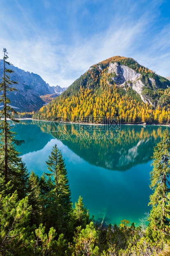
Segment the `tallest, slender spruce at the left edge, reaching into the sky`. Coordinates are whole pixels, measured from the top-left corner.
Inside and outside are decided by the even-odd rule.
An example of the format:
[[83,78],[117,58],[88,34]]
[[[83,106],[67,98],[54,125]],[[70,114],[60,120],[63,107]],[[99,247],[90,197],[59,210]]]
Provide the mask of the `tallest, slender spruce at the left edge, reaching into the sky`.
[[12,112],[16,113],[16,111],[9,106],[11,103],[9,98],[7,97],[8,92],[16,91],[14,87],[12,87],[17,82],[10,79],[8,73],[13,73],[11,69],[8,69],[6,66],[11,65],[11,63],[7,62],[7,50],[4,48],[4,74],[2,77],[2,82],[0,83],[0,92],[2,95],[0,96],[0,103],[3,104],[3,108],[0,110],[0,119],[2,116],[4,120],[0,121],[0,172],[5,176],[5,183],[9,180],[9,175],[14,172],[14,169],[17,167],[20,159],[18,158],[18,152],[16,151],[16,146],[21,145],[23,141],[16,140],[14,132],[11,131],[10,123],[7,122],[7,119],[10,119],[16,123],[19,123],[18,120],[14,119],[12,116]]

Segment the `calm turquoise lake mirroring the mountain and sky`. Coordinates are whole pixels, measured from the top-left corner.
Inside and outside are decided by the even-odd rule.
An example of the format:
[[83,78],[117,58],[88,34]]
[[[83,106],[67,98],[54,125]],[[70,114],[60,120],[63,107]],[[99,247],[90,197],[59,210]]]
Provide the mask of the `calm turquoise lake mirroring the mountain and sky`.
[[[12,124],[25,140],[17,149],[28,171],[47,173],[56,144],[65,159],[72,202],[79,195],[90,216],[104,223],[140,223],[148,206],[151,156],[165,126],[91,126],[21,120]],[[169,131],[170,128],[168,128]]]

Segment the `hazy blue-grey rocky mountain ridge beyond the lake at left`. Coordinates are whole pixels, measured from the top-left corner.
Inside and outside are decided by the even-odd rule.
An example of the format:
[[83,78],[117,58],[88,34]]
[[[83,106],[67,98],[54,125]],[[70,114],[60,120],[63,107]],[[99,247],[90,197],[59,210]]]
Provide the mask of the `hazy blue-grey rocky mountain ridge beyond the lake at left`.
[[[42,95],[56,94],[53,87],[49,86],[39,75],[24,71],[15,66],[9,66],[14,73],[10,74],[12,80],[17,81],[15,85],[18,92],[10,92],[11,105],[22,111],[40,109],[46,102],[40,98]],[[3,60],[0,59],[0,78],[3,76]],[[62,90],[57,85],[59,91]],[[59,95],[59,93],[58,93]]]

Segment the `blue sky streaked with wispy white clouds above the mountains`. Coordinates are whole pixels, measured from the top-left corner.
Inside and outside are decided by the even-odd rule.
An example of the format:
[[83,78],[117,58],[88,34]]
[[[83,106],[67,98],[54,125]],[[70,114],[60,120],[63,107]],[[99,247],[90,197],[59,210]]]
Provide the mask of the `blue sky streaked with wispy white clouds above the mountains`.
[[0,0],[3,47],[51,86],[115,55],[170,76],[170,0]]

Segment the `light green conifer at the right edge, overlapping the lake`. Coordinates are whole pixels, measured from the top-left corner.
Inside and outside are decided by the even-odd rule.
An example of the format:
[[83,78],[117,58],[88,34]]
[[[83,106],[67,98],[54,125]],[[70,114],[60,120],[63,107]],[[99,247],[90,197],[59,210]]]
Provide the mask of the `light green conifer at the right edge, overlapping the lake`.
[[154,159],[151,165],[151,189],[154,193],[150,196],[149,205],[152,206],[149,216],[149,227],[165,231],[165,226],[170,221],[170,136],[168,131],[163,133],[163,139],[154,148]]

